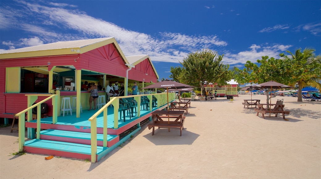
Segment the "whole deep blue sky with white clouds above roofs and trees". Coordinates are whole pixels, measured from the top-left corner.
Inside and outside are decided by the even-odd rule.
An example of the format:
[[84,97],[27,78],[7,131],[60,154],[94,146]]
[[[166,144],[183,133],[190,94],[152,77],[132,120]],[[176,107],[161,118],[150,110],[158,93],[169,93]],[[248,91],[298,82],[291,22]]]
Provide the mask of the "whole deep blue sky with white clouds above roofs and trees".
[[286,50],[320,55],[321,1],[0,1],[0,51],[102,37],[148,54],[160,78],[204,48],[243,69]]

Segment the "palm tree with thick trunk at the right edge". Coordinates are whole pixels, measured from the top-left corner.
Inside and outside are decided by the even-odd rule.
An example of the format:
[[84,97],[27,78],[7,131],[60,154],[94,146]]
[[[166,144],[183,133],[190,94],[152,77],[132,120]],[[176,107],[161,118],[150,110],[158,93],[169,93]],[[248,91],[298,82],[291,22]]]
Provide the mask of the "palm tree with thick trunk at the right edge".
[[301,49],[295,51],[292,54],[290,51],[286,51],[290,54],[289,56],[280,54],[281,57],[286,61],[287,70],[285,76],[290,77],[289,83],[291,85],[297,84],[299,86],[298,101],[302,101],[302,88],[306,86],[313,86],[317,89],[321,89],[321,66],[320,66],[320,55],[315,55],[313,52],[315,49],[305,48],[303,52]]

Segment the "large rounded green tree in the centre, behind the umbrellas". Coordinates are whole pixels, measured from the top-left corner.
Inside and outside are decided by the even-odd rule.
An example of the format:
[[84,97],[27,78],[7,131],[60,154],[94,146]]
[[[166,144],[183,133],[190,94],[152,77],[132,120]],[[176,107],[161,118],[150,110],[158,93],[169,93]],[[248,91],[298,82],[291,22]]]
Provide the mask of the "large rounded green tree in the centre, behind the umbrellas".
[[218,83],[219,85],[227,84],[231,79],[231,72],[228,70],[229,65],[224,65],[221,61],[223,55],[206,49],[188,54],[183,59],[179,80],[182,83],[191,86],[200,86],[201,91],[204,90],[204,84]]

